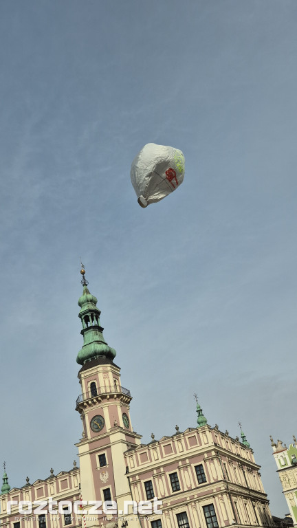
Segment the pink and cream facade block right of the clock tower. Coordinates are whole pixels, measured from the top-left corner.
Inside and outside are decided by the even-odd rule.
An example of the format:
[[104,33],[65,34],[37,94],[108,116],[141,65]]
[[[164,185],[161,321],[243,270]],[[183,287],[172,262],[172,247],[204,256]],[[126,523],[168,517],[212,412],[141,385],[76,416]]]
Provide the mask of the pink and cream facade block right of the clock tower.
[[190,526],[206,528],[203,506],[210,505],[220,527],[273,525],[252,450],[218,428],[189,428],[131,447],[124,456],[133,498],[163,501],[163,514],[143,519],[144,527],[151,528],[153,519],[177,527],[178,514],[186,512]]

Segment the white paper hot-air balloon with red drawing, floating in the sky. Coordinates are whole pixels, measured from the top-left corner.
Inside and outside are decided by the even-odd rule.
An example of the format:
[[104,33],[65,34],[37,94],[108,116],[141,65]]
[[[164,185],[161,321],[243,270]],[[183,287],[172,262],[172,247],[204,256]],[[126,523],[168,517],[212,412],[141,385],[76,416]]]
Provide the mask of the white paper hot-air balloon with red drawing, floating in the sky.
[[173,146],[148,143],[133,159],[131,182],[142,207],[162,200],[184,181],[184,154]]

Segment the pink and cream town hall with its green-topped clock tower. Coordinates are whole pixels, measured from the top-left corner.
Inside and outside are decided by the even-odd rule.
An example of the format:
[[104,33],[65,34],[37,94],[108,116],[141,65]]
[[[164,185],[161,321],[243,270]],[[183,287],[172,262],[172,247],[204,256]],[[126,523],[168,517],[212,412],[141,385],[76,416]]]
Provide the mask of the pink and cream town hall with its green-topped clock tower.
[[[79,467],[10,487],[4,473],[1,528],[217,528],[272,527],[269,501],[250,444],[241,431],[233,439],[210,427],[197,403],[197,424],[148,444],[135,432],[131,393],[122,386],[115,350],[103,337],[97,299],[83,275],[78,300],[83,347],[78,352],[80,395],[76,410],[82,436],[76,446]],[[192,424],[193,425],[193,424]],[[78,513],[34,514],[29,501],[80,501]],[[162,501],[153,513],[133,511],[133,501]],[[9,501],[14,500],[11,511]],[[18,503],[23,503],[19,513]],[[95,503],[115,501],[117,511],[94,514]],[[125,501],[131,506],[125,509]],[[57,506],[54,506],[54,509]],[[83,508],[83,511],[82,511]],[[93,509],[92,509],[93,508]],[[136,509],[137,510],[137,509]]]

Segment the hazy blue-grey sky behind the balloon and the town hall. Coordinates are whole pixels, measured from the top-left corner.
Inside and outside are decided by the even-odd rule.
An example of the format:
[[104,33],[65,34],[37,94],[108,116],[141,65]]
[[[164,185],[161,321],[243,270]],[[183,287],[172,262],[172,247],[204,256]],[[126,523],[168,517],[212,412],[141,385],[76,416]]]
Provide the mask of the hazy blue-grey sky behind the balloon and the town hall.
[[[0,3],[1,421],[11,486],[70,470],[80,257],[151,440],[243,424],[272,514],[296,405],[297,3]],[[140,208],[131,162],[180,148]],[[295,402],[295,403],[294,403]]]

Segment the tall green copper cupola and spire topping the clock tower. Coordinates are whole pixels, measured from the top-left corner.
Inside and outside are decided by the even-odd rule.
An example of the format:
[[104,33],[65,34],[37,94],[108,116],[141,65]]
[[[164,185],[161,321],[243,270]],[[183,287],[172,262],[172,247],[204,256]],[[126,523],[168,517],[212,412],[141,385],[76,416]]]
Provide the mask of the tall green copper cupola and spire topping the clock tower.
[[103,328],[100,326],[101,312],[96,306],[98,301],[89,292],[87,287],[88,281],[85,278],[85,267],[83,265],[80,273],[83,275],[81,281],[83,295],[78,299],[78,306],[80,306],[78,317],[80,317],[83,324],[83,329],[80,333],[83,335],[84,344],[83,348],[78,352],[76,361],[80,365],[84,365],[86,362],[98,358],[109,358],[113,360],[116,352],[104,340]]

